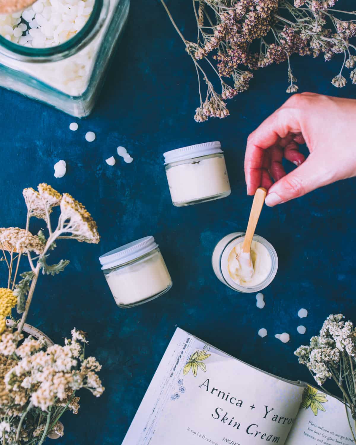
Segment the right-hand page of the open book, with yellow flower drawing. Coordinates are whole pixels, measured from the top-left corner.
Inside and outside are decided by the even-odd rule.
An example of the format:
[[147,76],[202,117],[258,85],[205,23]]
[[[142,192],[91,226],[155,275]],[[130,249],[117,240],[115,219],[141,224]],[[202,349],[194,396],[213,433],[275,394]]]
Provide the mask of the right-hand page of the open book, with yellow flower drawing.
[[[350,413],[349,419],[351,425],[354,425]],[[350,445],[354,443],[345,405],[335,397],[308,385],[286,445]]]

